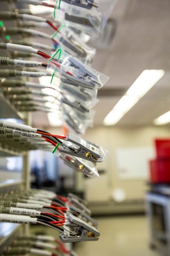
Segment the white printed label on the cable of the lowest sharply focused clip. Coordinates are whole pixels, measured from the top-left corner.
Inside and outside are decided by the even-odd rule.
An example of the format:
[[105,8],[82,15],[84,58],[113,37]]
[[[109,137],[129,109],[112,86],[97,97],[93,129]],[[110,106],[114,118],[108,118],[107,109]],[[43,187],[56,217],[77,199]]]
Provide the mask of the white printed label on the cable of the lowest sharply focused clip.
[[18,223],[18,224],[36,224],[37,218],[1,213],[0,222],[10,222],[10,223]]

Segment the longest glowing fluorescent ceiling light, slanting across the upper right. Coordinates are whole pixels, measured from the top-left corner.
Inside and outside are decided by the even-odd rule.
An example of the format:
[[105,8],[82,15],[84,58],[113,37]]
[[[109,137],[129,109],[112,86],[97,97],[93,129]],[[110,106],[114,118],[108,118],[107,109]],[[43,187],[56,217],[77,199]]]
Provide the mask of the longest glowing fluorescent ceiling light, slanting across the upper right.
[[144,70],[104,119],[114,125],[165,75],[162,69]]

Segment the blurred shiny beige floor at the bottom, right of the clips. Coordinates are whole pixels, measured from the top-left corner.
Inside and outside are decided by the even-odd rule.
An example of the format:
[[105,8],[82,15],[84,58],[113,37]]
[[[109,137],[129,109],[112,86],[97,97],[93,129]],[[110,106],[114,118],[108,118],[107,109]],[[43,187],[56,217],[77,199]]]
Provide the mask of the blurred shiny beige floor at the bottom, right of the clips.
[[100,238],[96,242],[80,242],[74,251],[79,256],[158,256],[149,249],[146,217],[132,215],[95,218],[99,222]]

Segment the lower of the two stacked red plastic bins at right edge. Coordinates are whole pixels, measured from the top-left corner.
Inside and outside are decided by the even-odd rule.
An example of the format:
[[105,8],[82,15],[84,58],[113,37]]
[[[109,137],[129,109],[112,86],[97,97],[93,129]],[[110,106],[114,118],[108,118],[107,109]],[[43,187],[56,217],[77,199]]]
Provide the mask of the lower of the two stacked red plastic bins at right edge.
[[170,182],[170,159],[154,159],[149,161],[150,182],[169,183]]

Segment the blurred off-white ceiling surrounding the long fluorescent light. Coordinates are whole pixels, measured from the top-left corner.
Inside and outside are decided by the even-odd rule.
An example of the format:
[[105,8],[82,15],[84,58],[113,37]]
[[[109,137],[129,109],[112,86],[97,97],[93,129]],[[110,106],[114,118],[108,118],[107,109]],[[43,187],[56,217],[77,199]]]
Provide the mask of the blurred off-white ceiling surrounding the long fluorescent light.
[[[169,0],[118,0],[110,17],[117,24],[113,41],[107,49],[97,50],[92,65],[111,77],[99,91],[95,125],[102,125],[122,93],[145,69],[164,69],[166,74],[116,126],[152,124],[156,117],[169,110],[169,13]],[[45,125],[46,114],[35,113],[32,121]]]

